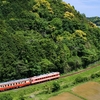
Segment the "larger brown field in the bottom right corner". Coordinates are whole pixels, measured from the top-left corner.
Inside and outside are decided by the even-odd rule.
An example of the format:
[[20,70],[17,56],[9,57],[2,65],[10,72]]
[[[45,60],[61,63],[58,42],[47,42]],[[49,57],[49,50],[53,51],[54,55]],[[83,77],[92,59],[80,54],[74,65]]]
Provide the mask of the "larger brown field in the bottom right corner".
[[96,82],[87,82],[76,86],[72,91],[87,100],[100,100],[100,84]]

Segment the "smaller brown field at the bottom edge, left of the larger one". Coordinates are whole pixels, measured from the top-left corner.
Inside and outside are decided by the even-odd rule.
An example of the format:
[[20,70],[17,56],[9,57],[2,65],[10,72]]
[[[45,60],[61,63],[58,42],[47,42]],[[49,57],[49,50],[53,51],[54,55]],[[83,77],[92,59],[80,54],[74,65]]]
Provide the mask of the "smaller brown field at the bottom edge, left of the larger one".
[[67,93],[62,93],[58,96],[52,97],[49,100],[82,100],[82,99],[67,92]]

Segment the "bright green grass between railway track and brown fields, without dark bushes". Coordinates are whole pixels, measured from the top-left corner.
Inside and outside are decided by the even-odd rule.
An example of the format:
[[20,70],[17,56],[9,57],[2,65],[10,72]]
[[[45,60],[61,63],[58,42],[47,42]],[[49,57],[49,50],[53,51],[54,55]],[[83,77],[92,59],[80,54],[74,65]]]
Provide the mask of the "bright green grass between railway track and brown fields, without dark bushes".
[[[70,91],[74,86],[78,84],[73,84],[73,81],[78,77],[78,76],[90,76],[92,73],[95,73],[100,70],[100,66],[94,67],[90,70],[86,70],[85,72],[75,74],[72,76],[68,76],[65,78],[60,78],[58,80],[53,80],[53,81],[48,81],[44,82],[42,84],[36,84],[36,85],[31,85],[27,86],[24,88],[19,88],[19,89],[14,89],[10,91],[5,91],[5,92],[0,92],[0,95],[2,94],[10,94],[13,97],[13,100],[21,100],[19,99],[20,96],[23,96],[23,100],[48,100],[49,97],[55,96],[57,94],[60,94],[62,92]],[[54,93],[46,94],[45,91],[45,86],[51,86],[53,82],[57,81],[57,83],[60,84],[60,90]],[[93,79],[93,81],[100,82],[99,78]],[[82,83],[81,83],[82,84]]]

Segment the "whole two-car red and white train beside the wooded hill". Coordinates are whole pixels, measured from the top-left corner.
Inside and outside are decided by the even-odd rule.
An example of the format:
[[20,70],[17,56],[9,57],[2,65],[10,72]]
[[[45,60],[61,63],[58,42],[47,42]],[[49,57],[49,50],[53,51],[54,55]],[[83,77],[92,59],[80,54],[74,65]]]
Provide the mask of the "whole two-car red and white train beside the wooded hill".
[[58,79],[60,77],[59,72],[51,72],[43,75],[33,76],[30,78],[25,79],[19,79],[19,80],[12,80],[8,82],[0,83],[0,92],[10,90],[10,89],[16,89],[20,87],[25,87],[28,85],[33,85],[36,83],[41,83],[53,79]]

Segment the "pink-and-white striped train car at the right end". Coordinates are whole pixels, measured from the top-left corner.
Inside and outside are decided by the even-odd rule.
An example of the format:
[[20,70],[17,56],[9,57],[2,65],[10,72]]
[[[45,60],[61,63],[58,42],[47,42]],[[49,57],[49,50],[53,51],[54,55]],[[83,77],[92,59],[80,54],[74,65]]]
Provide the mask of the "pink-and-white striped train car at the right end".
[[35,84],[35,83],[40,83],[48,80],[57,79],[59,77],[60,77],[59,72],[52,72],[48,74],[31,77],[30,80],[31,80],[31,84]]

